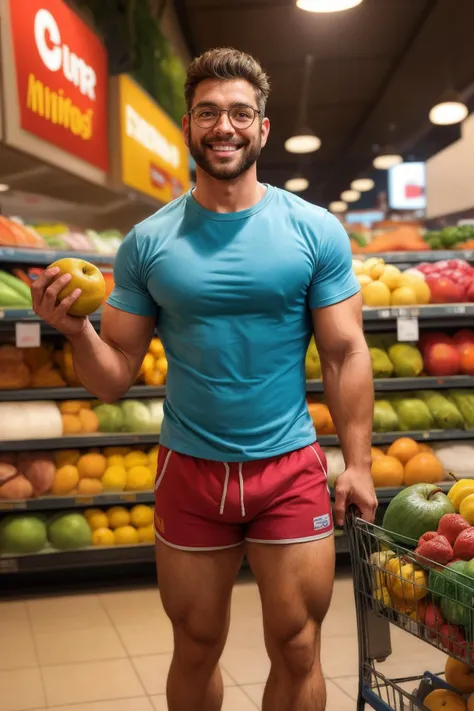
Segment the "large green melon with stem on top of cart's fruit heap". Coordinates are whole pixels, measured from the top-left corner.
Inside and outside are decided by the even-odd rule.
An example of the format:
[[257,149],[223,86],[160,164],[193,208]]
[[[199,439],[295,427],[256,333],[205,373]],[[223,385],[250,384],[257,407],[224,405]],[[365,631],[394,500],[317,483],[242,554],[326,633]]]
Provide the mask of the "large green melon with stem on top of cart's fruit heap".
[[435,484],[414,484],[400,491],[383,517],[384,529],[398,543],[415,547],[427,531],[436,531],[441,518],[455,513],[448,497]]

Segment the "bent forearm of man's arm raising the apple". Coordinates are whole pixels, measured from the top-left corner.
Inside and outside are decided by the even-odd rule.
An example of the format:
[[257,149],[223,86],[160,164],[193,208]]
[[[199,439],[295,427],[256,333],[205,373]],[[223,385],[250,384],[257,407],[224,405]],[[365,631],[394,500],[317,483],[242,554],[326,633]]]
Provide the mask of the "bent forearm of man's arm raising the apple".
[[77,336],[68,338],[74,370],[82,385],[100,400],[114,402],[128,389],[130,372],[126,357],[101,339],[88,323]]

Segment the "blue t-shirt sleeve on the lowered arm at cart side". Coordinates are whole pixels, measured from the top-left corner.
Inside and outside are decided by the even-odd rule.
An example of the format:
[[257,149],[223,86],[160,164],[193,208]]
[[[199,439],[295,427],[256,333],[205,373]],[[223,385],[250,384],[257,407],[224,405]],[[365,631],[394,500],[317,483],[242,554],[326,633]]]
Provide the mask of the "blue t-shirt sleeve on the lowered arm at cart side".
[[309,308],[318,309],[337,304],[359,291],[360,285],[352,269],[352,251],[347,232],[337,217],[327,212],[308,291]]

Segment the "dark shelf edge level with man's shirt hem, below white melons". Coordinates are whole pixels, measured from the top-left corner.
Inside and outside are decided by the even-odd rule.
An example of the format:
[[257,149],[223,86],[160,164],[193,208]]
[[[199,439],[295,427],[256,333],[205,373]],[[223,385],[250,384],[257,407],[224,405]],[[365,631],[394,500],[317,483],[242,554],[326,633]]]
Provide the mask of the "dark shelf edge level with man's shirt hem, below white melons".
[[[446,442],[449,440],[474,440],[474,430],[429,430],[427,432],[374,432],[372,443],[392,444],[400,437],[411,437],[417,442]],[[131,434],[117,432],[111,434],[66,435],[51,439],[22,439],[0,441],[0,452],[27,452],[46,449],[86,449],[88,447],[132,446],[139,444],[158,444],[157,434]],[[337,435],[318,437],[322,447],[337,447]]]

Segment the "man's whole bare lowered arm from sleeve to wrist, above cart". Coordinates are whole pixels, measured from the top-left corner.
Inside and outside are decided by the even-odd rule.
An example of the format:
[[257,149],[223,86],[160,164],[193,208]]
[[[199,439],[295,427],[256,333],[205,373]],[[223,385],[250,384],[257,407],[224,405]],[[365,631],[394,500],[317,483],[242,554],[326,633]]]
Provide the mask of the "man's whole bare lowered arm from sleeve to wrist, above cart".
[[312,310],[327,404],[347,468],[370,472],[374,393],[359,294]]

